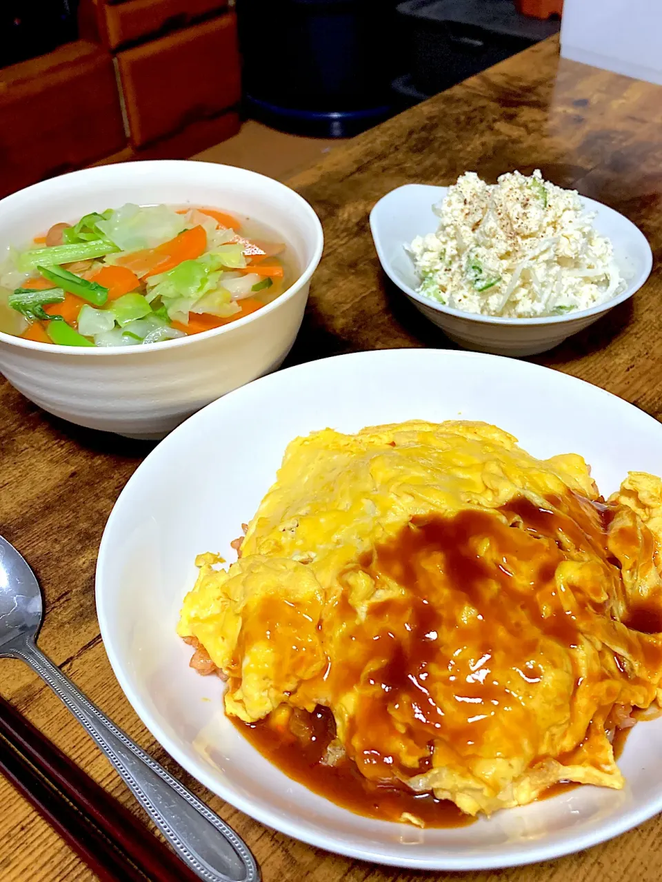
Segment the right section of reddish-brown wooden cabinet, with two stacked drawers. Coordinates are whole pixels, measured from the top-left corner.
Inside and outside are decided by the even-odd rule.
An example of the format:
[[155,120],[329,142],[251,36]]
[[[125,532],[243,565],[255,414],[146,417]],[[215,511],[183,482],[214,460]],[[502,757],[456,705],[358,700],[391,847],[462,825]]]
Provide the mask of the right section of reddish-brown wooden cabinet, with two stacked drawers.
[[229,0],[80,0],[81,28],[114,56],[128,146],[110,161],[184,158],[239,130]]

